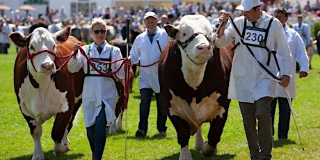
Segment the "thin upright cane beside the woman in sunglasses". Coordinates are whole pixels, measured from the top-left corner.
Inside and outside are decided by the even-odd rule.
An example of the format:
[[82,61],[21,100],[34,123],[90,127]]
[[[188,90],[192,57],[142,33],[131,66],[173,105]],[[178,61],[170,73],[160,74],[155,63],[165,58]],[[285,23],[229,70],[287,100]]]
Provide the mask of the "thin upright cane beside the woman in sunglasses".
[[[127,58],[129,57],[129,23],[130,23],[130,20],[129,18],[127,18]],[[129,81],[129,66],[126,65],[127,67],[127,70],[126,70],[126,74],[125,74],[125,77],[126,77],[126,80]],[[127,81],[125,83],[125,95],[127,96],[126,99],[129,98],[129,86],[127,85]],[[125,102],[125,159],[127,159],[127,131],[128,131],[128,109],[127,109],[127,105],[128,103]]]

